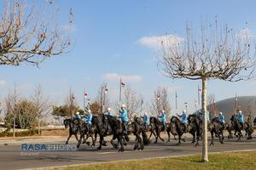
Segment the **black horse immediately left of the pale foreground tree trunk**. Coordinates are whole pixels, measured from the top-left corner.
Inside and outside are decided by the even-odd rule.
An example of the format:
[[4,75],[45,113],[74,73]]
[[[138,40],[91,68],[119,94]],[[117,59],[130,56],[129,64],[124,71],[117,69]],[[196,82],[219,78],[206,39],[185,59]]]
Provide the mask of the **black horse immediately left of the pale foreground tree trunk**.
[[199,116],[189,115],[188,116],[188,122],[189,122],[189,133],[192,134],[193,140],[192,144],[195,144],[195,146],[199,145],[199,139],[201,138],[202,134],[202,122]]

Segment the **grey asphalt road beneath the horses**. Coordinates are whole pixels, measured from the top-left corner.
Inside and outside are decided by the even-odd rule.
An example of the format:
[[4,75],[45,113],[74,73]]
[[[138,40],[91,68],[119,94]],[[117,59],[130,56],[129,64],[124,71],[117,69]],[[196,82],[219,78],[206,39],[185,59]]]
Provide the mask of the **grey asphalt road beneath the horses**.
[[[61,141],[52,140],[47,144],[63,144],[64,139]],[[71,144],[76,144],[72,139]],[[24,142],[22,142],[24,143]],[[30,142],[31,144],[46,144],[44,140]],[[70,151],[24,151],[21,150],[20,143],[0,145],[0,169],[22,169],[22,168],[35,168],[35,167],[52,167],[52,166],[66,166],[73,164],[84,164],[93,162],[106,162],[106,161],[121,161],[131,159],[143,159],[151,157],[162,156],[183,156],[201,153],[201,146],[195,147],[190,144],[188,139],[186,143],[177,146],[177,141],[172,139],[171,143],[159,142],[159,144],[149,144],[144,150],[133,150],[133,142],[125,146],[125,152],[121,153],[114,150],[111,144],[96,150],[89,146],[82,145],[79,150]],[[209,144],[209,141],[208,141]],[[225,139],[224,144],[219,144],[218,140],[214,145],[209,147],[209,152],[221,152],[230,150],[256,150],[256,137],[253,140],[241,139],[237,142],[236,139]]]

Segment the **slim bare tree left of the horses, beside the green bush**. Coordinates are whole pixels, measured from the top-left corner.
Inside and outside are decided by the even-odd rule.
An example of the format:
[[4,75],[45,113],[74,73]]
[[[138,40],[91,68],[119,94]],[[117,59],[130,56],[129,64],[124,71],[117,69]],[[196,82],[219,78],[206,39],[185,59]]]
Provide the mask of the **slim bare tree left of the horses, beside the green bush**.
[[40,122],[42,121],[42,118],[50,113],[51,110],[49,99],[44,98],[40,85],[38,85],[38,87],[35,89],[34,95],[32,96],[32,101],[36,108],[38,118],[38,134],[40,134]]

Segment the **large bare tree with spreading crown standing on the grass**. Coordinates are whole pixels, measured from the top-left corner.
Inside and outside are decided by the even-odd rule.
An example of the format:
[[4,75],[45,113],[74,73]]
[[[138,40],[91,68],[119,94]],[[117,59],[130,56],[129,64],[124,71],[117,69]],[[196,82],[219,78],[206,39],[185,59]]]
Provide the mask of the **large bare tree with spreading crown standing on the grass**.
[[[247,28],[236,33],[228,26],[201,26],[199,32],[186,27],[186,37],[176,42],[162,43],[160,70],[166,77],[201,80],[203,111],[202,161],[207,155],[207,81],[220,79],[230,82],[247,80],[255,69],[255,51]],[[177,39],[177,38],[176,38]],[[253,51],[252,51],[253,48]]]

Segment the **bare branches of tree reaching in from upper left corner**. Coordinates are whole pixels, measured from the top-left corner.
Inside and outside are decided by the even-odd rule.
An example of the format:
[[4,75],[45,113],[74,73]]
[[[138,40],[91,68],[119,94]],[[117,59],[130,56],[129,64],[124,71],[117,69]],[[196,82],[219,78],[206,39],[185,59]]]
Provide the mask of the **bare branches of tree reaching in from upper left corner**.
[[[54,1],[28,4],[5,0],[0,19],[0,65],[39,65],[53,55],[67,52],[71,41],[58,26]],[[73,11],[69,12],[72,24]]]

